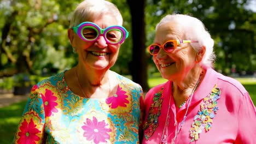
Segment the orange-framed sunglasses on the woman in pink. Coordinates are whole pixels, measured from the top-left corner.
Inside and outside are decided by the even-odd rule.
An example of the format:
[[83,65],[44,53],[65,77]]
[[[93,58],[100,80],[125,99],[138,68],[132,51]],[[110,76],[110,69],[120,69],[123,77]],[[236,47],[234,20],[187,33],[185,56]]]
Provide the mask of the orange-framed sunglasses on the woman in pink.
[[182,43],[198,43],[198,41],[179,40],[179,39],[167,40],[163,45],[159,45],[159,44],[149,45],[148,52],[150,53],[150,55],[153,55],[153,56],[158,55],[161,47],[164,49],[165,52],[172,52],[177,48],[179,44],[182,44]]

